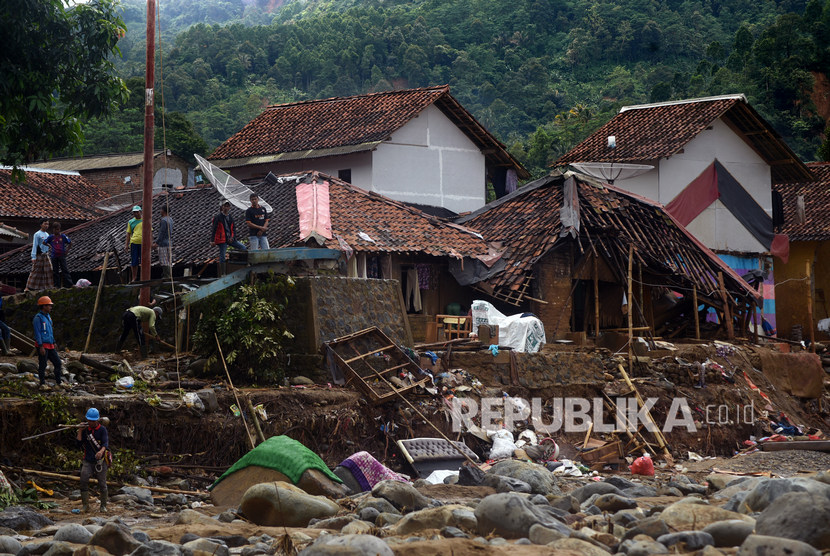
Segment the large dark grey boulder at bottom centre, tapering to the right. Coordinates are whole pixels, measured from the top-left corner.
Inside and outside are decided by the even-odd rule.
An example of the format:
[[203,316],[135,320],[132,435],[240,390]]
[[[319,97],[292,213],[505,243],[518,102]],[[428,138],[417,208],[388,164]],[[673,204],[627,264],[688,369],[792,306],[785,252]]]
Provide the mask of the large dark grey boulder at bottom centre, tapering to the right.
[[531,504],[518,494],[491,494],[476,507],[478,532],[481,535],[495,533],[509,539],[520,539],[528,536],[534,524],[540,523],[570,536],[570,528],[556,519],[549,510],[552,508]]

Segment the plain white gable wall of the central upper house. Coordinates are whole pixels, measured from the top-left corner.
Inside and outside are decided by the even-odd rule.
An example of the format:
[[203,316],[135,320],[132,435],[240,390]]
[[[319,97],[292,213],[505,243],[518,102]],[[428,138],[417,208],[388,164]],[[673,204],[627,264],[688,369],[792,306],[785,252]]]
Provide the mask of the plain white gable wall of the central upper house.
[[484,205],[484,182],[484,155],[435,106],[372,153],[372,189],[399,201],[475,210]]

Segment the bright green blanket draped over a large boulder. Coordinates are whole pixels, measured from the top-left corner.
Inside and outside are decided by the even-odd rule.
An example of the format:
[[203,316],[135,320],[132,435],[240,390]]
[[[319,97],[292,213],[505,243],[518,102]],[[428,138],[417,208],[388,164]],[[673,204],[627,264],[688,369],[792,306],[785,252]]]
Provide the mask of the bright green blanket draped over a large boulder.
[[[331,472],[320,456],[287,436],[272,436],[234,463],[210,488],[215,487],[225,477],[244,469],[249,465],[258,465],[279,471],[294,484],[300,480],[306,469],[317,469],[336,483],[342,483],[340,477]],[[208,489],[210,490],[210,489]]]

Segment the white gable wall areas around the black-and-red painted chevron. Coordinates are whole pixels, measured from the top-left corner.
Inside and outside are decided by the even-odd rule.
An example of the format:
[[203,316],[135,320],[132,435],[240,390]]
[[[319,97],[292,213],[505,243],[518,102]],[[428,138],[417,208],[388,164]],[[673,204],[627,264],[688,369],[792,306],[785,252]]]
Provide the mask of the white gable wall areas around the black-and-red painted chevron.
[[[666,205],[715,159],[767,214],[772,214],[769,165],[722,120],[716,120],[711,129],[702,131],[686,144],[682,152],[658,161],[655,169],[635,178],[619,180],[615,185]],[[687,228],[707,247],[716,251],[766,251],[720,201],[715,201]]]

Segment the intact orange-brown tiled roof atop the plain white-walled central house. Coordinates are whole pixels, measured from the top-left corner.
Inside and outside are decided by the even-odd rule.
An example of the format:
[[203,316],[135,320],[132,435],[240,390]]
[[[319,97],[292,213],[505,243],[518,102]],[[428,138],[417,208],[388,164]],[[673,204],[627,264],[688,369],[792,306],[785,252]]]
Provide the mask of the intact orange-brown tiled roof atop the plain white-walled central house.
[[449,85],[334,97],[266,108],[208,157],[222,168],[334,156],[376,148],[430,105],[497,165],[530,174],[450,95]]

